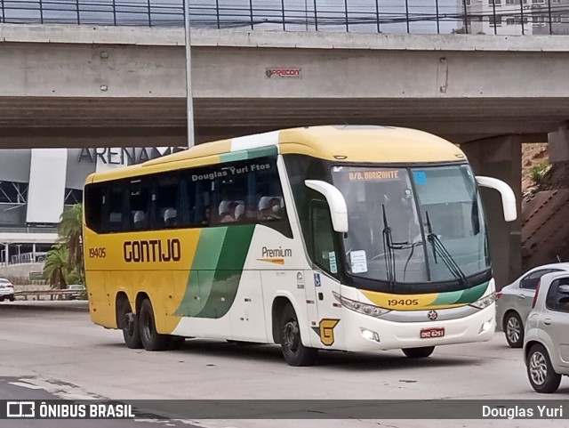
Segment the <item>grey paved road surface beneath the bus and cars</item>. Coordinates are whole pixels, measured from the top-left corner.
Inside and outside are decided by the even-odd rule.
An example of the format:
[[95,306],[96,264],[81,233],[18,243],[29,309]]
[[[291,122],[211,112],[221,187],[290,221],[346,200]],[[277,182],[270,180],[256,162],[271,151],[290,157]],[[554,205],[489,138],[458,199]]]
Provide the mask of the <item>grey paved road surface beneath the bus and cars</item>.
[[[10,382],[9,382],[10,381]],[[438,348],[429,359],[411,360],[400,351],[323,352],[315,367],[288,367],[276,346],[237,346],[188,340],[180,351],[147,352],[124,347],[122,334],[94,326],[82,311],[44,311],[33,305],[0,303],[0,399],[16,384],[41,388],[65,399],[275,399],[410,400],[543,399],[525,376],[520,350],[509,349],[502,333],[489,343]],[[12,383],[11,383],[12,382]],[[20,388],[21,398],[38,390]],[[569,398],[565,378],[555,396]],[[569,409],[567,409],[569,411]],[[460,417],[460,416],[457,416]],[[36,422],[36,424],[31,424]],[[541,420],[541,427],[565,427]],[[44,424],[48,423],[48,424]],[[175,424],[172,422],[172,424]],[[354,427],[423,428],[435,421],[413,420],[201,420],[207,428]],[[438,428],[525,426],[536,421],[437,421]],[[12,428],[12,425],[4,425]],[[20,428],[20,425],[13,425]],[[22,427],[76,425],[28,421]],[[81,428],[91,425],[81,422]],[[95,426],[95,425],[93,425]],[[126,422],[96,426],[126,428]],[[137,427],[143,427],[137,423]],[[156,426],[156,425],[155,425]]]

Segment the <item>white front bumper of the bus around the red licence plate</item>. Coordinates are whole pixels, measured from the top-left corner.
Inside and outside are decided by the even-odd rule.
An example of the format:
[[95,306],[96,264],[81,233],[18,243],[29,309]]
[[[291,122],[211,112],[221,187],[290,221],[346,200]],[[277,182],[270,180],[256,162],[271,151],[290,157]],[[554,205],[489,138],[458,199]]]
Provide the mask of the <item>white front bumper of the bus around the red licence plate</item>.
[[[349,351],[380,351],[418,348],[453,343],[485,342],[496,329],[495,303],[460,319],[425,322],[393,322],[346,311],[344,326],[346,349]],[[425,332],[429,329],[428,332]],[[421,338],[423,335],[444,335]],[[431,333],[434,332],[434,333]]]

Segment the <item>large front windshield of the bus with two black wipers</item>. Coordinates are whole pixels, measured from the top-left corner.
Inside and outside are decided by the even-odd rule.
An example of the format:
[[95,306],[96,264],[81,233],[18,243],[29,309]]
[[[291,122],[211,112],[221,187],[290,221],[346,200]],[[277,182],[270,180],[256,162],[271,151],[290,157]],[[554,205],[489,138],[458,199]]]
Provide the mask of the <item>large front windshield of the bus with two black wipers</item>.
[[348,205],[346,270],[397,283],[462,281],[490,268],[485,216],[468,165],[333,166]]

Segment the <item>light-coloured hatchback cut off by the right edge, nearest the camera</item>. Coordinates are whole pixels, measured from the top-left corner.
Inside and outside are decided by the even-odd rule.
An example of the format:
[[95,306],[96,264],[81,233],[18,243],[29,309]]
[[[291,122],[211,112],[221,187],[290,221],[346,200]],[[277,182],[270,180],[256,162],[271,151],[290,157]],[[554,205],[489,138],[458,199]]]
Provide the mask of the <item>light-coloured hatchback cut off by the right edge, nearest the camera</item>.
[[556,392],[569,376],[569,273],[541,278],[527,317],[524,341],[527,377],[537,392]]

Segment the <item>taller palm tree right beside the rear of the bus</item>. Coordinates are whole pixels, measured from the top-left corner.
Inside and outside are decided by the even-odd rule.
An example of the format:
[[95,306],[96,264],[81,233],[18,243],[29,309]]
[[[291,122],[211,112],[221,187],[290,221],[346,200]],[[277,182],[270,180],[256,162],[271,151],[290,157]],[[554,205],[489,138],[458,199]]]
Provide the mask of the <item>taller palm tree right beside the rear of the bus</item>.
[[76,268],[79,278],[84,279],[83,265],[83,204],[76,204],[61,214],[57,226],[61,243],[68,248],[68,265]]

